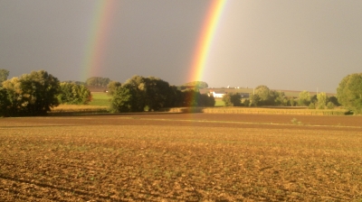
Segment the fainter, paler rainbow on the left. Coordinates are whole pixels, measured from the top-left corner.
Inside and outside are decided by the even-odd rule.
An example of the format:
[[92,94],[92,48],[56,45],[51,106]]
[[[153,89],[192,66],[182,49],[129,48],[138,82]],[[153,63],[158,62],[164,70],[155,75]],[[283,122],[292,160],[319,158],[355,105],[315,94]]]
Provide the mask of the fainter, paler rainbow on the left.
[[86,43],[85,55],[82,62],[81,78],[100,76],[103,65],[105,46],[110,32],[113,8],[117,0],[96,1],[93,19],[90,22],[90,32]]

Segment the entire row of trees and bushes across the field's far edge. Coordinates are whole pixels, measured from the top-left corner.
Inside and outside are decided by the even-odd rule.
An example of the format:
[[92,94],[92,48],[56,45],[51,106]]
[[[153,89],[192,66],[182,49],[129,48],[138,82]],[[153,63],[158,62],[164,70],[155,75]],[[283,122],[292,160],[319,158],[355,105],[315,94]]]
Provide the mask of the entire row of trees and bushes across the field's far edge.
[[[110,78],[93,77],[85,82],[64,81],[44,70],[32,71],[19,78],[7,79],[9,71],[0,69],[0,115],[45,115],[60,104],[87,105],[92,97],[87,86],[108,87],[111,112],[157,111],[165,107],[214,106],[213,96],[200,94],[198,88],[207,87],[203,81],[186,83],[184,87],[168,84],[160,78],[134,76],[125,83]],[[190,88],[195,86],[195,88]],[[254,88],[248,99],[240,94],[224,95],[225,106],[308,106],[333,108],[344,106],[354,114],[362,114],[362,73],[343,78],[336,96],[319,93],[311,96],[302,91],[297,97],[288,97],[281,91],[266,86]]]

